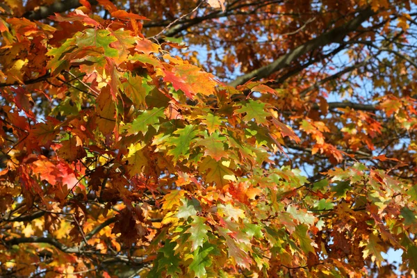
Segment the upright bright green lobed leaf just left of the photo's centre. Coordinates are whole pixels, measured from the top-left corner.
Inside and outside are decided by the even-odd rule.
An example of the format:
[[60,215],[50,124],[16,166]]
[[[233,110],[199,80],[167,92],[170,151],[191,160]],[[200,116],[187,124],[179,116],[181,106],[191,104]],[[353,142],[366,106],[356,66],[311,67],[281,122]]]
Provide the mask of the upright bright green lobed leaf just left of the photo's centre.
[[190,156],[190,142],[197,135],[193,124],[183,129],[177,129],[174,131],[174,134],[178,136],[170,136],[167,138],[166,145],[169,147],[174,146],[173,149],[168,150],[168,154],[174,156],[175,161],[178,161],[181,156],[188,158]]

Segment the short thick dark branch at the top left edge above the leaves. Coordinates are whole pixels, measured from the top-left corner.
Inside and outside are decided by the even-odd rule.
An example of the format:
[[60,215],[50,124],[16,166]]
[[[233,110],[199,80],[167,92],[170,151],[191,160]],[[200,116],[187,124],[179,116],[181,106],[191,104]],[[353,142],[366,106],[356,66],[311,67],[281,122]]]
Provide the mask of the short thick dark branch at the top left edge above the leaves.
[[[90,4],[96,5],[97,0],[88,0]],[[54,15],[54,13],[63,13],[73,8],[81,6],[79,0],[56,0],[50,6],[40,6],[37,10],[31,10],[23,15],[27,19],[40,20]]]

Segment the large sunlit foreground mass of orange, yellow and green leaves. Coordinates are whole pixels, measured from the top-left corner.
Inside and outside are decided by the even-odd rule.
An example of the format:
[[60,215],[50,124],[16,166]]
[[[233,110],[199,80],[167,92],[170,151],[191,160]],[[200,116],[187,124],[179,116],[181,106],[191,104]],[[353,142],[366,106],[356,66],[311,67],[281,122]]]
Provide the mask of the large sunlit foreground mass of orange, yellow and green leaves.
[[[379,97],[391,122],[343,106],[325,123],[309,95],[284,123],[307,106],[297,84],[234,88],[145,38],[145,17],[80,2],[54,24],[0,17],[1,275],[361,277],[392,273],[390,248],[417,270],[417,187],[391,174],[412,161],[354,158],[412,133],[415,99]],[[345,165],[306,179],[284,145]]]

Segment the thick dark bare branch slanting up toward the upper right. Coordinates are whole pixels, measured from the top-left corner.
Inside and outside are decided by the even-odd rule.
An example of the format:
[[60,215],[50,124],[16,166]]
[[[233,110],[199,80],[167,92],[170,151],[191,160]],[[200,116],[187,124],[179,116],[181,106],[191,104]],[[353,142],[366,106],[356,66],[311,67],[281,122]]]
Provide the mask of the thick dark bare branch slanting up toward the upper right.
[[313,40],[309,40],[308,42],[300,45],[300,47],[297,47],[290,53],[279,57],[277,60],[270,63],[269,65],[265,65],[264,67],[260,67],[259,69],[254,70],[253,72],[238,77],[235,81],[229,83],[229,85],[236,87],[237,85],[243,84],[251,79],[257,80],[268,77],[270,76],[270,74],[277,72],[278,70],[281,70],[284,67],[287,67],[288,65],[291,65],[291,63],[294,60],[300,58],[300,56],[303,56],[304,54],[309,53],[313,49],[317,49],[319,47],[323,47],[327,44],[331,44],[334,42],[341,42],[341,40],[345,38],[345,35],[357,30],[357,28],[359,28],[359,26],[361,26],[361,24],[365,22],[373,14],[374,13],[370,8],[367,8],[366,10],[361,10],[359,15],[357,15],[357,17],[352,19],[350,22],[347,22],[342,26],[336,27],[331,31],[323,33],[322,35],[319,35],[317,38],[314,38]]

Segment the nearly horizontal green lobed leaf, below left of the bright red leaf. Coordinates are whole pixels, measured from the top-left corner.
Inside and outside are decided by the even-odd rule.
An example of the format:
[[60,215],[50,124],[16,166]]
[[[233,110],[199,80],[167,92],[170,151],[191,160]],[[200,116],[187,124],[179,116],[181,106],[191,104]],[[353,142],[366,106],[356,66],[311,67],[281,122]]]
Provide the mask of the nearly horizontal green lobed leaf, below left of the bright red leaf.
[[126,124],[128,135],[142,132],[145,135],[149,129],[149,126],[153,126],[156,131],[159,129],[159,118],[165,118],[163,113],[164,108],[153,108],[140,114],[133,123]]

